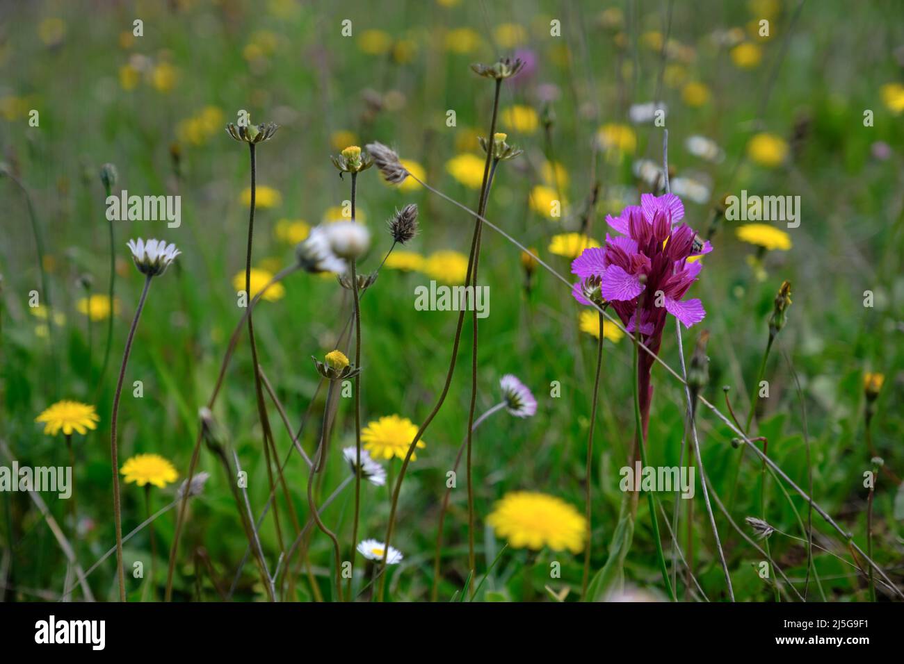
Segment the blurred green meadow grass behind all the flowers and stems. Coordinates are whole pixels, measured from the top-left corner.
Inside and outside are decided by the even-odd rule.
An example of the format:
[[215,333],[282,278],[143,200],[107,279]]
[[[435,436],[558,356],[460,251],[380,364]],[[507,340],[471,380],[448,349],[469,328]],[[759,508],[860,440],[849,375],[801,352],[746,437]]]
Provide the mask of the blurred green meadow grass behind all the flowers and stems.
[[[701,297],[706,320],[685,332],[690,353],[699,329],[711,332],[711,383],[706,397],[723,406],[722,386],[739,412],[747,413],[767,341],[767,317],[782,280],[794,294],[786,328],[778,337],[767,367],[770,397],[760,403],[758,432],[768,437],[770,456],[801,486],[806,486],[805,435],[809,436],[815,499],[855,541],[865,547],[865,500],[862,473],[871,454],[863,440],[862,375],[886,375],[873,422],[875,446],[893,472],[901,465],[904,417],[901,396],[902,188],[900,109],[883,102],[883,85],[904,75],[904,23],[901,7],[887,3],[805,3],[794,20],[797,3],[777,2],[771,36],[749,33],[771,3],[674,3],[670,36],[692,50],[687,61],[668,60],[661,98],[668,105],[670,165],[675,173],[711,178],[711,201],[685,200],[686,220],[704,231],[712,205],[723,192],[741,189],[767,195],[800,195],[799,228],[789,230],[793,247],[770,252],[760,275],[749,263],[756,248],[734,236],[733,222],[722,221],[712,238],[714,252],[705,258],[701,281],[692,296]],[[28,311],[28,294],[40,290],[40,274],[32,229],[21,192],[0,179],[3,196],[2,345],[0,383],[3,416],[0,438],[20,463],[65,463],[61,438],[42,435],[34,417],[59,398],[69,397],[98,407],[97,431],[76,436],[79,463],[75,470],[82,518],[78,552],[89,566],[114,542],[109,471],[109,416],[113,388],[128,323],[134,313],[141,277],[131,266],[128,238],[155,237],[174,242],[183,252],[174,267],[155,279],[137,332],[127,372],[127,391],[120,411],[120,459],[157,453],[172,460],[184,479],[198,426],[197,411],[209,397],[229,335],[240,319],[232,278],[244,268],[247,206],[240,193],[248,186],[247,148],[233,142],[222,126],[248,109],[255,122],[275,121],[277,135],[260,145],[259,185],[281,193],[273,209],[258,210],[254,264],[289,264],[294,248],[276,237],[278,220],[319,222],[325,210],[348,198],[329,162],[343,145],[333,145],[336,132],[351,132],[358,145],[379,140],[405,159],[422,164],[428,182],[470,207],[477,192],[447,173],[447,160],[463,152],[479,154],[475,136],[486,132],[493,85],[469,69],[471,62],[493,62],[513,49],[499,45],[495,31],[504,23],[523,26],[523,48],[536,57],[536,71],[515,84],[506,82],[502,107],[532,106],[542,84],[554,84],[560,95],[552,105],[555,159],[564,165],[570,201],[565,220],[549,220],[529,205],[529,192],[541,182],[543,131],[501,126],[509,142],[525,149],[523,157],[501,164],[489,201],[487,218],[513,233],[561,273],[569,261],[547,250],[552,235],[574,229],[574,218],[597,180],[600,202],[591,235],[606,231],[605,215],[616,214],[630,201],[626,192],[649,191],[637,182],[637,158],[661,158],[662,129],[633,126],[634,154],[612,158],[592,148],[599,126],[626,123],[632,103],[654,99],[663,78],[661,51],[651,48],[649,33],[664,33],[668,2],[391,2],[379,9],[360,2],[40,2],[9,3],[0,10],[0,161],[33,195],[42,229],[50,300],[65,314],[54,330],[56,361],[51,363],[41,323]],[[608,24],[616,8],[620,26]],[[610,10],[608,14],[604,14]],[[771,11],[771,10],[769,10]],[[608,18],[607,18],[608,17]],[[129,39],[132,22],[144,21],[144,36]],[[341,34],[344,19],[353,36]],[[559,19],[561,36],[550,36],[550,21]],[[793,33],[788,36],[788,31]],[[745,41],[756,43],[762,61],[739,69],[730,49],[711,41],[716,30],[739,27]],[[456,40],[449,33],[471,31]],[[364,31],[389,35],[393,49],[368,53]],[[125,33],[125,36],[123,35]],[[472,34],[473,33],[473,34]],[[472,39],[473,37],[473,39]],[[451,41],[450,41],[451,40]],[[473,41],[470,48],[449,43]],[[402,44],[401,47],[398,44]],[[401,49],[399,51],[398,49]],[[898,51],[896,51],[898,49]],[[896,55],[897,52],[897,55]],[[125,74],[122,68],[147,60],[145,71]],[[133,60],[130,60],[133,59]],[[164,69],[160,69],[161,66]],[[700,81],[709,90],[702,106],[683,99],[684,81]],[[128,77],[132,76],[133,80]],[[124,79],[124,77],[126,77]],[[126,83],[124,87],[124,82]],[[126,89],[134,83],[134,88]],[[365,92],[365,90],[370,90]],[[367,98],[381,98],[372,111]],[[198,136],[186,135],[184,121],[205,107],[221,111],[221,125]],[[28,126],[27,111],[40,111],[40,126]],[[447,109],[457,113],[457,126],[446,125]],[[863,126],[863,111],[874,113],[874,126]],[[746,158],[750,136],[767,131],[791,145],[786,164],[765,168]],[[710,136],[726,153],[720,164],[688,154],[687,136]],[[197,139],[197,140],[193,140]],[[877,159],[873,144],[890,146],[890,156]],[[174,173],[172,145],[181,151],[181,173]],[[182,196],[182,226],[167,229],[162,221],[114,222],[117,295],[114,343],[103,384],[97,388],[106,322],[93,323],[89,354],[88,319],[76,309],[84,296],[80,276],[92,279],[92,292],[105,293],[108,280],[108,222],[99,167],[116,164],[115,191]],[[595,173],[595,174],[594,174]],[[358,206],[373,232],[363,270],[374,269],[390,247],[384,220],[408,202],[420,207],[421,232],[412,247],[423,253],[440,249],[466,252],[472,220],[423,189],[400,191],[381,182],[372,169],[359,179]],[[513,372],[532,388],[540,407],[536,416],[515,420],[493,416],[476,434],[476,513],[478,573],[483,574],[503,542],[485,528],[485,515],[506,491],[544,491],[583,510],[583,473],[589,426],[595,340],[577,329],[579,304],[567,289],[539,271],[530,296],[523,292],[519,251],[489,229],[484,232],[480,281],[490,285],[490,316],[480,322],[477,413],[499,400],[498,379]],[[432,406],[447,369],[456,313],[415,311],[414,288],[428,276],[384,269],[363,298],[363,420],[398,413],[419,424]],[[317,375],[311,355],[323,356],[350,313],[348,292],[334,278],[294,275],[286,295],[263,302],[255,311],[261,363],[286,405],[294,426],[314,397]],[[863,292],[874,293],[874,306],[863,306]],[[466,331],[469,330],[466,323]],[[678,366],[673,323],[666,327],[662,357]],[[469,332],[466,333],[469,339]],[[432,580],[437,510],[450,469],[466,430],[470,343],[463,341],[449,397],[424,435],[403,485],[393,545],[405,555],[391,571],[391,598],[425,600]],[[617,520],[621,492],[618,468],[626,462],[634,429],[631,397],[631,346],[627,339],[605,345],[594,473],[592,567],[606,560],[607,544]],[[798,395],[791,373],[801,383]],[[144,382],[143,398],[128,387]],[[551,381],[560,381],[561,396],[550,397]],[[651,463],[675,465],[683,437],[683,390],[661,367],[654,368],[654,400],[649,429]],[[319,431],[324,392],[306,426],[303,444],[313,450]],[[806,424],[802,417],[805,408]],[[242,465],[249,472],[250,500],[256,515],[268,497],[261,433],[247,337],[243,336],[227,375],[215,415],[229,431]],[[274,409],[271,421],[280,454],[289,438]],[[324,482],[331,490],[347,474],[338,450],[353,444],[352,399],[342,399],[334,431],[334,454]],[[702,454],[714,489],[727,500],[739,450],[730,445],[730,430],[702,410],[699,417]],[[747,454],[733,516],[739,523],[759,515],[759,464]],[[398,471],[399,462],[393,462]],[[213,600],[212,584],[228,587],[247,540],[240,527],[226,478],[215,458],[202,451],[201,468],[212,473],[201,499],[191,505],[180,547],[176,574],[178,599]],[[287,466],[287,480],[299,518],[306,519],[306,468],[297,458]],[[466,556],[466,492],[463,469],[452,493],[447,518],[440,599],[464,584]],[[695,499],[692,528],[695,574],[711,599],[725,599],[724,579],[712,545],[711,528]],[[803,536],[793,510],[769,482],[767,520],[777,528]],[[897,583],[904,581],[901,520],[894,516],[899,491],[880,476],[875,497],[875,559]],[[144,518],[143,492],[123,486],[124,531]],[[153,492],[155,504],[172,491]],[[324,494],[325,495],[325,494]],[[346,491],[325,510],[325,521],[339,533],[344,547],[351,537],[352,492]],[[52,512],[64,521],[64,501],[49,498]],[[280,498],[281,500],[281,498]],[[671,513],[672,497],[663,496]],[[805,515],[805,501],[794,498]],[[5,598],[29,600],[34,589],[59,594],[65,559],[52,535],[23,494],[3,494],[4,527],[0,541],[9,562]],[[385,487],[363,484],[363,538],[382,538],[389,512]],[[281,510],[285,514],[285,510]],[[284,526],[288,529],[287,520]],[[717,512],[717,524],[729,559],[738,599],[768,600],[772,590],[757,574],[761,556],[729,527]],[[831,530],[814,516],[815,530]],[[156,596],[162,596],[163,570],[174,528],[174,512],[156,524],[158,539]],[[664,528],[662,519],[660,527]],[[743,526],[742,526],[743,527]],[[147,593],[147,584],[128,574],[131,562],[147,560],[147,533],[126,546],[129,598]],[[268,560],[277,555],[271,519],[261,531]],[[681,538],[687,534],[682,526]],[[817,535],[815,541],[850,560],[843,545]],[[667,556],[670,548],[664,540]],[[773,536],[772,554],[786,575],[805,576],[805,548]],[[206,550],[212,572],[198,562]],[[322,592],[331,592],[332,548],[315,533],[310,558]],[[551,579],[552,561],[561,563],[561,578]],[[509,548],[484,585],[480,599],[546,599],[570,585],[579,592],[582,556],[543,550],[528,553]],[[851,566],[817,552],[815,566],[830,600],[864,600],[866,586]],[[359,558],[358,567],[363,568]],[[271,562],[272,568],[272,562]],[[650,519],[645,501],[637,518],[636,537],[626,573],[631,584],[662,594]],[[116,596],[115,558],[90,577],[99,598]],[[802,584],[799,584],[802,587]],[[22,590],[24,589],[24,590]],[[32,589],[29,592],[27,589]],[[683,585],[679,587],[683,595]],[[571,592],[568,599],[574,599]],[[80,597],[80,593],[77,593]],[[144,596],[147,596],[145,594]],[[810,596],[819,596],[811,586]],[[880,599],[887,598],[880,592]],[[240,600],[264,597],[253,560],[245,566],[235,595]],[[310,591],[303,580],[297,596]]]

